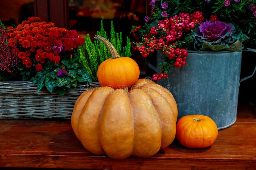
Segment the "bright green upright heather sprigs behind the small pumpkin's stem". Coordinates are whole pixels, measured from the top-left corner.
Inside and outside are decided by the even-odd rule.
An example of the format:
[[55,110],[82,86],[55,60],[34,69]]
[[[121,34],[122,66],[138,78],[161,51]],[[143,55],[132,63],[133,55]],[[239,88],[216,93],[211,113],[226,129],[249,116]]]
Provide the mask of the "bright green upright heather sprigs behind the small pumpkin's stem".
[[[101,21],[101,28],[97,34],[108,39],[107,32],[103,27],[103,21]],[[120,56],[130,57],[132,55],[131,42],[128,37],[126,38],[126,42],[126,46],[123,46],[122,32],[116,33],[113,21],[111,21],[110,43],[116,48],[116,51]],[[107,46],[96,40],[92,42],[90,35],[87,34],[84,44],[81,47],[78,47],[78,52],[80,60],[87,70],[87,73],[91,76],[92,81],[97,81],[97,71],[100,63],[111,57]]]

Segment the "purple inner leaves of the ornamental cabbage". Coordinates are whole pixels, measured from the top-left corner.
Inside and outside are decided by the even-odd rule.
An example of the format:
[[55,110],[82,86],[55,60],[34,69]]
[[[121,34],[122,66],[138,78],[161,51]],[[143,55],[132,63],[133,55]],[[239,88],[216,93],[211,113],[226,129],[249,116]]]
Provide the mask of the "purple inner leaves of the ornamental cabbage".
[[213,42],[232,34],[232,25],[221,21],[206,21],[200,24],[196,33],[197,36],[207,38],[208,42]]

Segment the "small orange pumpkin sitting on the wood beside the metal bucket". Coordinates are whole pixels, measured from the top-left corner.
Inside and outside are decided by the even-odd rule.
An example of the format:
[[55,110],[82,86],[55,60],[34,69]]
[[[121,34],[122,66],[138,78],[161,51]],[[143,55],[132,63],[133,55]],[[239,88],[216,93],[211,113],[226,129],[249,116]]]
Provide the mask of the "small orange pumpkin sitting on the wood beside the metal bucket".
[[218,136],[215,122],[204,115],[187,115],[176,125],[176,138],[188,148],[204,148],[213,144]]

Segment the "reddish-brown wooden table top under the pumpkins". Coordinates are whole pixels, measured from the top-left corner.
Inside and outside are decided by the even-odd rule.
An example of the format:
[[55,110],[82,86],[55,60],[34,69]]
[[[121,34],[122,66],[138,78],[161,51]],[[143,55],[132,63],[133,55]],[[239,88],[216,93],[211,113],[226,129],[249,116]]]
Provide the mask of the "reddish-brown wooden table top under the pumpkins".
[[176,139],[151,158],[114,160],[88,152],[70,121],[0,119],[0,167],[70,169],[256,169],[256,111],[239,104],[237,121],[207,148]]

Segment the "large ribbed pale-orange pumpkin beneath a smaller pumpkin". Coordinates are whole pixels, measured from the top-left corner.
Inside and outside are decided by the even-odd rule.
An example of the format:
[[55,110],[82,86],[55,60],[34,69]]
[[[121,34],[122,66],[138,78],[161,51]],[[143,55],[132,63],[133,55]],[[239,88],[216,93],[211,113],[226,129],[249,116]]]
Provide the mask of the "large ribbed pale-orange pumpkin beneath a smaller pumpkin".
[[139,79],[128,92],[89,89],[77,99],[71,116],[84,147],[113,159],[153,156],[174,140],[176,121],[172,94],[148,79]]

